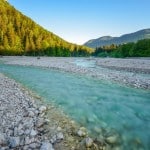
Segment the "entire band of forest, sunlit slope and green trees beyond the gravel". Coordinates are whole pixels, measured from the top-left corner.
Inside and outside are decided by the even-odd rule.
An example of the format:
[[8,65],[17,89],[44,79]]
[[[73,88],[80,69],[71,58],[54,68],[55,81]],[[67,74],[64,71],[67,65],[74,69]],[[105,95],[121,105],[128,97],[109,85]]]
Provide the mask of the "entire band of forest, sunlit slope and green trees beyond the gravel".
[[69,43],[0,0],[0,55],[150,57],[150,39],[98,47]]

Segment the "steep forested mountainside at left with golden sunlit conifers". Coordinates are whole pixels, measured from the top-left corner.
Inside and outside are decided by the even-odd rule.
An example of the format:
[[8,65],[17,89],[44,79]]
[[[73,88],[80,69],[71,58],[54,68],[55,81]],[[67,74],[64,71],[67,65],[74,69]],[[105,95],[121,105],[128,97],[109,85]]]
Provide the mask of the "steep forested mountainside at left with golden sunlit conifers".
[[86,56],[91,51],[63,40],[0,0],[0,55]]

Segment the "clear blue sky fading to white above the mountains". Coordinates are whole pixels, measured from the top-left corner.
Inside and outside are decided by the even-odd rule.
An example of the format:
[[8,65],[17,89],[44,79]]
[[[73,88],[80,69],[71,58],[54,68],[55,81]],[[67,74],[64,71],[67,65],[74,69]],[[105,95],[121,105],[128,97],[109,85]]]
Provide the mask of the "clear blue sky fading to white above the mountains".
[[150,0],[8,0],[63,39],[83,44],[150,28]]

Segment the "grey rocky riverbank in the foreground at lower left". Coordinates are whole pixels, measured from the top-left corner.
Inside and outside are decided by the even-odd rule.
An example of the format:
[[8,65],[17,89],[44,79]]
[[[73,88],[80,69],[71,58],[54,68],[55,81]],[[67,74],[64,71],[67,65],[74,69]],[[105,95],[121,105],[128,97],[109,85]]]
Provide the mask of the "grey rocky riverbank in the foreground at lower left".
[[0,74],[0,150],[110,150],[117,142],[117,135],[90,138],[61,109]]

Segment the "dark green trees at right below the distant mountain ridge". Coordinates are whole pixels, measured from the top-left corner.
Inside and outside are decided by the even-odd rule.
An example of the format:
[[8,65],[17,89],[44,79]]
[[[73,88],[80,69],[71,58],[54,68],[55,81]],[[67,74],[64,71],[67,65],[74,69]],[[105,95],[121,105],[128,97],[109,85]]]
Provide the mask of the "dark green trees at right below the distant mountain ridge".
[[139,40],[137,43],[110,45],[96,48],[92,54],[99,57],[150,57],[150,39]]

